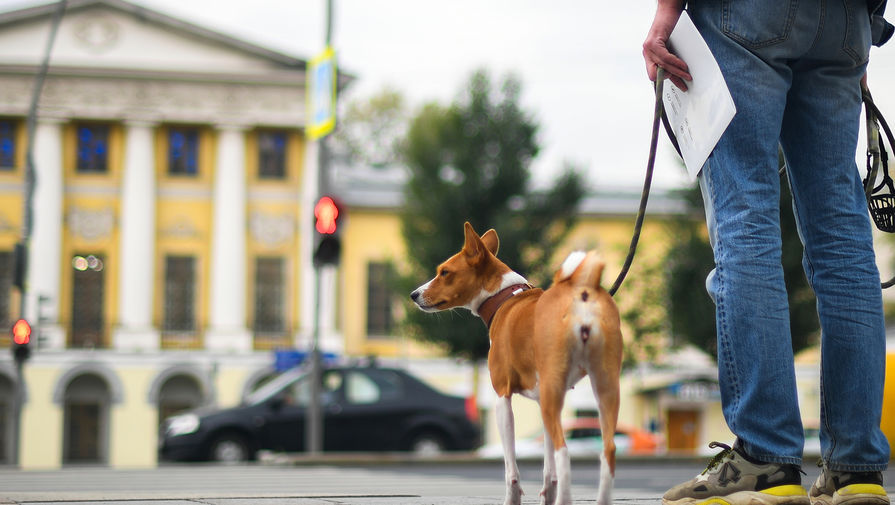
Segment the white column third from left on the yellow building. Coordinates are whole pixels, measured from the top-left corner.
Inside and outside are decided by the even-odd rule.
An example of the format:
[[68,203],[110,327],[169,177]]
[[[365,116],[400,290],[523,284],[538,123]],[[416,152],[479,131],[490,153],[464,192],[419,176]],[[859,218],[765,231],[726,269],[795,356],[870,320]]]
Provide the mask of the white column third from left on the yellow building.
[[211,315],[205,348],[252,350],[246,328],[246,173],[243,129],[219,126],[211,243]]

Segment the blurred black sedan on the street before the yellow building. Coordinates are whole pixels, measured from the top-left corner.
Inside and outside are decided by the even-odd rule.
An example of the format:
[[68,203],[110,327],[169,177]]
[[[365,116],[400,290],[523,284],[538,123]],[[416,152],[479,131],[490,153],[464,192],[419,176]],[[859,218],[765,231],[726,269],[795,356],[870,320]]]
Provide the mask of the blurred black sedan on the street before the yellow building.
[[[228,409],[199,409],[165,420],[159,457],[244,461],[260,450],[301,452],[310,399],[309,370],[285,372]],[[435,391],[407,372],[333,367],[322,373],[324,451],[472,450],[481,441],[471,399]]]

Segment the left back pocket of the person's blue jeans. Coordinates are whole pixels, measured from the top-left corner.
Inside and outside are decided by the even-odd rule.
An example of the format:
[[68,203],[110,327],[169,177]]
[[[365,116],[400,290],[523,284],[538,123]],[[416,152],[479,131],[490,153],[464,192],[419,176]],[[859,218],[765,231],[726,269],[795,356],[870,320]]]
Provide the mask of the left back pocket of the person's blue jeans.
[[799,0],[722,0],[721,32],[747,49],[779,44],[792,30],[798,4]]

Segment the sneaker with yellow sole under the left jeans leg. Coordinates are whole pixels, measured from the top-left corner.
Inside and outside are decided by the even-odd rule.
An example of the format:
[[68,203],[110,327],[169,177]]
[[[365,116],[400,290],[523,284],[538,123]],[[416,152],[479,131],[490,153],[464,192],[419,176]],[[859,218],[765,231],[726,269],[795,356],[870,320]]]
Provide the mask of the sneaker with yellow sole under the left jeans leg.
[[724,450],[696,478],[668,490],[664,505],[810,505],[798,465],[749,460],[738,444],[709,447]]

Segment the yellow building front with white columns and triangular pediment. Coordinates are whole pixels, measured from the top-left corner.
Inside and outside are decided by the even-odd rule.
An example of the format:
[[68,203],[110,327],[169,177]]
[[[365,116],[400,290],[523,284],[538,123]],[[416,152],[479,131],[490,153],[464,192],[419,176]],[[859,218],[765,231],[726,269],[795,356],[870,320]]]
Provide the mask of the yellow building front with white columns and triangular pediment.
[[[0,15],[0,326],[27,317],[37,344],[19,463],[151,465],[161,419],[236,403],[306,333],[306,64],[127,2],[68,4],[36,115],[24,314],[12,251],[56,6]],[[6,463],[16,380],[0,359]]]

